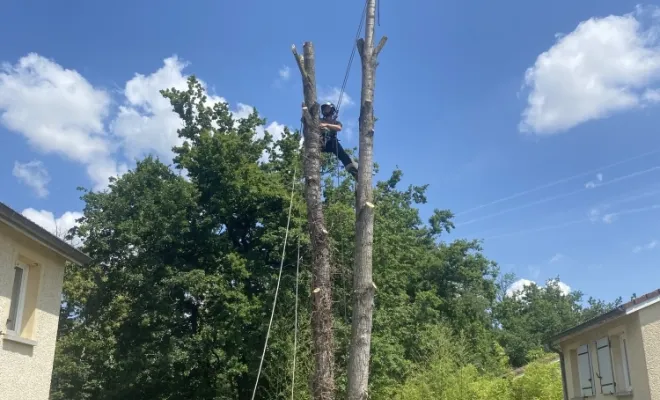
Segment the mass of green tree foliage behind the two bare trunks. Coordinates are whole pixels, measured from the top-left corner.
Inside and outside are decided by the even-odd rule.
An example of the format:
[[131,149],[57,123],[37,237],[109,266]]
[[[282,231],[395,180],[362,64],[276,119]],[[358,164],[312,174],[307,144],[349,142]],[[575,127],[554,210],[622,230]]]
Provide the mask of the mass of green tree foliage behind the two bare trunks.
[[[162,93],[183,122],[173,164],[146,157],[106,191],[83,193],[84,217],[72,234],[84,238],[84,251],[95,261],[66,271],[54,400],[251,398],[293,174],[300,171],[300,133],[286,130],[273,141],[257,129],[265,121],[256,112],[236,120],[226,104],[209,106],[194,77],[187,90]],[[310,398],[312,293],[304,181],[296,176],[259,399],[290,398],[298,243],[293,390],[296,399]],[[518,399],[511,396],[530,379],[561,385],[541,367],[526,380],[501,376],[510,364],[533,359],[530,351],[547,334],[610,305],[591,300],[585,310],[581,294],[563,295],[556,285],[504,296],[505,282],[480,243],[445,242],[442,234],[454,228],[451,212],[436,210],[423,221],[417,207],[427,202],[427,186],[401,187],[402,176],[393,171],[374,191],[373,397]],[[334,157],[324,159],[323,178],[340,398],[350,335],[355,194]],[[534,396],[554,399],[547,397],[552,390]]]

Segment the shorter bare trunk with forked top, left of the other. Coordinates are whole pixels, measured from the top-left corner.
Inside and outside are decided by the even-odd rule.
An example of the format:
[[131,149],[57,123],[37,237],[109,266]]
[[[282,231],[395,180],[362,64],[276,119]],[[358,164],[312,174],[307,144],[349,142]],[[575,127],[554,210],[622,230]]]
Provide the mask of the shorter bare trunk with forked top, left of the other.
[[314,46],[303,45],[300,56],[295,46],[291,50],[303,81],[303,136],[305,200],[307,223],[312,246],[312,339],[316,370],[312,383],[315,400],[334,398],[334,343],[332,334],[332,286],[330,274],[330,245],[325,228],[321,198],[321,141],[319,104],[316,101],[316,70]]

